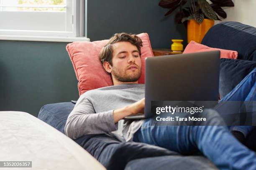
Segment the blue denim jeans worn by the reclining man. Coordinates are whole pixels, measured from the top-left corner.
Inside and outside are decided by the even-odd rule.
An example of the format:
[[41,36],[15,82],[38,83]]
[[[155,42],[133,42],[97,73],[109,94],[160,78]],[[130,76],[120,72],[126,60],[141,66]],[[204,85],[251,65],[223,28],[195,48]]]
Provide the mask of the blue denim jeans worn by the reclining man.
[[[223,100],[238,100],[235,97],[241,95],[244,95],[242,100],[254,100],[256,93],[255,77],[256,69],[246,76]],[[241,94],[239,95],[239,93]],[[210,109],[205,110],[205,112],[210,112],[207,114],[209,116],[207,120],[211,121],[211,126],[151,126],[151,119],[148,118],[134,134],[133,141],[157,145],[183,155],[191,155],[200,151],[223,170],[256,170],[255,153],[239,143],[227,126],[218,126],[223,125],[223,122],[218,118],[218,112]]]

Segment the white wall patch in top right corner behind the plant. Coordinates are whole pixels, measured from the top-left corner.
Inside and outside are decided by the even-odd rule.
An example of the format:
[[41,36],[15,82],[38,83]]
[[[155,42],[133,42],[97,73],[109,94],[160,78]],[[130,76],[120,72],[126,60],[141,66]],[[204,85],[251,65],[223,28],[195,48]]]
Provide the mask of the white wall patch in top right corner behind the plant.
[[227,18],[215,21],[215,24],[223,21],[237,21],[256,27],[256,0],[233,0],[235,7],[224,8]]

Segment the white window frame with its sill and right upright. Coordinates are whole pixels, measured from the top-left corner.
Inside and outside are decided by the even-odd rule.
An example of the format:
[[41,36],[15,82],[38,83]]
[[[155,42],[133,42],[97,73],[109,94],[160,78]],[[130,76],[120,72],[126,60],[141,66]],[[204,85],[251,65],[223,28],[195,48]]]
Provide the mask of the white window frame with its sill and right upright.
[[[70,5],[72,5],[70,7]],[[71,20],[71,24],[67,24],[67,27],[71,27],[72,31],[37,31],[37,30],[0,30],[0,40],[40,40],[42,37],[42,41],[90,41],[89,38],[86,37],[86,28],[87,19],[86,13],[84,11],[87,10],[87,0],[67,0],[67,10],[66,13],[71,13],[69,18],[66,20]],[[15,11],[16,13],[17,11]],[[20,11],[21,13],[23,11]],[[1,12],[0,12],[1,13]],[[32,12],[33,13],[33,12]],[[84,37],[85,36],[85,37]]]

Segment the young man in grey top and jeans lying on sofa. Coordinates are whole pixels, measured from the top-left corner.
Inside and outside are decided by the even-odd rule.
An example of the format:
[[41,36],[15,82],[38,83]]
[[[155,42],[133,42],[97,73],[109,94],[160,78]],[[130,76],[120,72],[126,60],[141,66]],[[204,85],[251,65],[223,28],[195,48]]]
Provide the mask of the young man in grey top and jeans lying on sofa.
[[[82,135],[110,133],[121,141],[158,145],[181,154],[201,151],[221,169],[256,169],[256,155],[236,140],[218,117],[210,112],[213,126],[154,126],[151,119],[122,120],[142,112],[145,86],[138,84],[141,75],[142,41],[136,35],[115,34],[100,52],[103,67],[111,74],[113,86],[85,92],[69,114],[65,133],[73,139]],[[256,69],[244,80],[255,83]],[[251,81],[253,79],[253,81]],[[238,85],[238,86],[239,86]],[[254,96],[251,84],[248,96]],[[232,98],[239,88],[230,93]],[[255,100],[253,98],[253,100]]]

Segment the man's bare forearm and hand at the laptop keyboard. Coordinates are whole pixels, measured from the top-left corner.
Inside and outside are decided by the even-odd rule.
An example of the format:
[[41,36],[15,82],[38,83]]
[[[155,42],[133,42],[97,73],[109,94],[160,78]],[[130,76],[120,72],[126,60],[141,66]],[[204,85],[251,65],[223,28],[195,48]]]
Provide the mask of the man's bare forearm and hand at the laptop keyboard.
[[131,105],[114,110],[113,111],[114,122],[117,123],[119,120],[129,115],[144,113],[144,107],[145,107],[145,98]]

